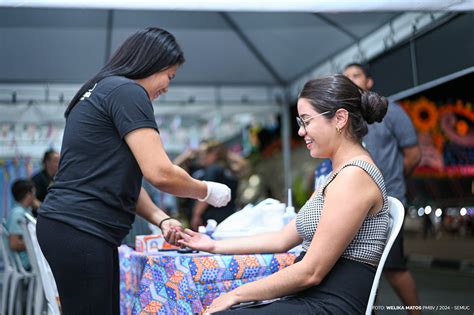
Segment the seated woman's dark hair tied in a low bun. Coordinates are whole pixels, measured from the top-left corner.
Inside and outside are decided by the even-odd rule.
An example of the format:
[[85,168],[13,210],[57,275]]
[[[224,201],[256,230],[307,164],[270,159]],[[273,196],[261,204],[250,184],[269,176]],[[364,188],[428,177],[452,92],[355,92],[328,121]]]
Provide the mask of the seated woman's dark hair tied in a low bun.
[[347,77],[336,74],[306,82],[300,98],[307,99],[318,113],[329,112],[332,118],[339,108],[349,112],[349,134],[360,140],[367,134],[367,124],[381,122],[388,102],[375,92],[362,91]]

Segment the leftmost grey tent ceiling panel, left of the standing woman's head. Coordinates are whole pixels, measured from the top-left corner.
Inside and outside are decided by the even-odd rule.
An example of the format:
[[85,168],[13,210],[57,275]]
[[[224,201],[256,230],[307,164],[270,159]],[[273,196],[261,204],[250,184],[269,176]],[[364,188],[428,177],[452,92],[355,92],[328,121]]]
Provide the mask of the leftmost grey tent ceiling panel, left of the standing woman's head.
[[1,8],[0,80],[71,82],[92,75],[105,60],[105,26],[104,11]]

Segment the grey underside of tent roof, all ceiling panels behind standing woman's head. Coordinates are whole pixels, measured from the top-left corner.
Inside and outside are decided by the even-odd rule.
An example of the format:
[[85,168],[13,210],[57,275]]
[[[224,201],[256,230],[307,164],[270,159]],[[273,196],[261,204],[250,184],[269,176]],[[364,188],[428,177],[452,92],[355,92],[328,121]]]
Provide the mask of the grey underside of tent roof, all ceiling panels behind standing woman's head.
[[398,16],[0,8],[0,83],[80,83],[138,29],[172,32],[182,85],[286,85]]

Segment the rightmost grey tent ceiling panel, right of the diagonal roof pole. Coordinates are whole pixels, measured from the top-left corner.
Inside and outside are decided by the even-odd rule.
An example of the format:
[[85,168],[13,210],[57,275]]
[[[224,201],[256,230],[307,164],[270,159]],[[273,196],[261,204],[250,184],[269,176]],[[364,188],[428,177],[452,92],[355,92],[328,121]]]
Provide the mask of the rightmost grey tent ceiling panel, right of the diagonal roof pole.
[[352,43],[352,38],[314,14],[252,12],[229,16],[286,82],[308,65]]

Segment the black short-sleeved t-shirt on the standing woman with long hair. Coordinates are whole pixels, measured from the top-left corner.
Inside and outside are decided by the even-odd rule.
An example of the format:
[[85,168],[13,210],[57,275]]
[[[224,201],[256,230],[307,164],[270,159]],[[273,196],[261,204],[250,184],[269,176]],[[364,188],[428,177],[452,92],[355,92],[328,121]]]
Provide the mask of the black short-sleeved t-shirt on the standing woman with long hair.
[[158,130],[135,81],[108,77],[86,92],[66,120],[58,173],[39,214],[120,245],[142,181],[124,137],[139,128]]

